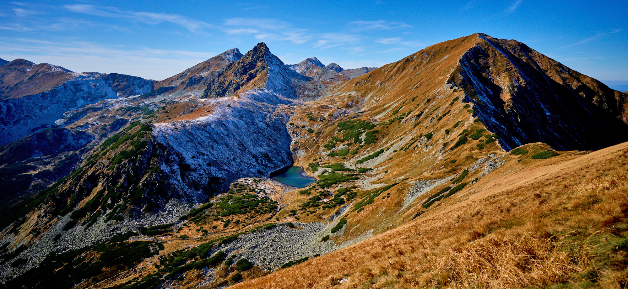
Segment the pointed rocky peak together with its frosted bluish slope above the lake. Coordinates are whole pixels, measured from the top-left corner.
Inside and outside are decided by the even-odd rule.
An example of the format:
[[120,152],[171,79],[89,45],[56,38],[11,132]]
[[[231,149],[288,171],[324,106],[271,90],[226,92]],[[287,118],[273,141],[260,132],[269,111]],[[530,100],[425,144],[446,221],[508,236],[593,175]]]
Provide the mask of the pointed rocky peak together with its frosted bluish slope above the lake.
[[[240,177],[268,176],[291,163],[288,115],[278,108],[293,103],[310,80],[286,68],[264,43],[224,72],[236,77],[212,78],[204,91],[216,87],[211,83],[222,83],[223,92],[250,89],[200,100],[193,112],[154,123],[154,138],[170,152],[161,169],[172,177],[175,191],[195,202],[225,191]],[[181,164],[185,174],[179,174]]]

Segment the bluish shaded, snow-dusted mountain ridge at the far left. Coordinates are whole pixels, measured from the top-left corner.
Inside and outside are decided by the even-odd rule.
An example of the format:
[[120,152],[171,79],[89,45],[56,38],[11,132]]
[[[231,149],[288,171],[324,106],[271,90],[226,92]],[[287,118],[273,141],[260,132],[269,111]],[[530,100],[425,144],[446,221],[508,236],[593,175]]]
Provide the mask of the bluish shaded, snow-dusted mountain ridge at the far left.
[[[57,127],[65,112],[107,98],[141,95],[153,81],[117,73],[72,73],[60,66],[14,60],[4,73],[0,99],[0,144]],[[68,123],[65,123],[68,124]]]

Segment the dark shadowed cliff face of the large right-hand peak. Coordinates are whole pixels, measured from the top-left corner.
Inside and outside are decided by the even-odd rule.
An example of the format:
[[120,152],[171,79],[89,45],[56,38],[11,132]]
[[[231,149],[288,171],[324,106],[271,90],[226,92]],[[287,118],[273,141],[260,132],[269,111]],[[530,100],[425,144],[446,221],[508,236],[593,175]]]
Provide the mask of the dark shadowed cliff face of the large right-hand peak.
[[478,34],[450,82],[507,150],[529,142],[591,150],[628,140],[625,93],[517,41]]

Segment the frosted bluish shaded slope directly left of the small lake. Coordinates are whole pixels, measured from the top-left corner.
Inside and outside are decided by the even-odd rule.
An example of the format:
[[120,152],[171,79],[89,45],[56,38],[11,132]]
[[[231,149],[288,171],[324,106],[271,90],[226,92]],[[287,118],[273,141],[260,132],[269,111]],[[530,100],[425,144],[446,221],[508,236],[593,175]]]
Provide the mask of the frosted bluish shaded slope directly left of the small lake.
[[268,177],[290,165],[288,115],[257,101],[273,97],[242,93],[235,102],[215,103],[207,117],[155,123],[154,137],[168,152],[161,169],[171,191],[204,201],[236,179]]

